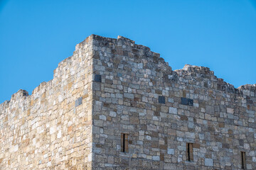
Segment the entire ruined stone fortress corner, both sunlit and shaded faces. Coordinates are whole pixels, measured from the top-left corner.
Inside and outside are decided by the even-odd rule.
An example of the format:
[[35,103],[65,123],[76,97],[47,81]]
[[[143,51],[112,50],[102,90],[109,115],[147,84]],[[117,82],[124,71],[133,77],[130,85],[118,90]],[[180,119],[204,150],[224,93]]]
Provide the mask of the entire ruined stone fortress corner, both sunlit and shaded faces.
[[0,169],[256,169],[256,84],[90,35],[0,105]]

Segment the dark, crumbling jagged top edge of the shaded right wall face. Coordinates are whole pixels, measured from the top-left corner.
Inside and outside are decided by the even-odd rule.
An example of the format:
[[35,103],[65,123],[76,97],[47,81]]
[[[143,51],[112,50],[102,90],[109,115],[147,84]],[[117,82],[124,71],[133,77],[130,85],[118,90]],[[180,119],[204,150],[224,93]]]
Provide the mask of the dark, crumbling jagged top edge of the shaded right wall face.
[[[233,84],[229,84],[228,82],[225,82],[223,79],[218,78],[215,76],[214,72],[211,71],[208,67],[199,67],[194,66],[191,64],[186,64],[183,69],[177,69],[172,71],[171,66],[168,64],[168,62],[165,62],[163,58],[160,57],[159,53],[151,52],[149,47],[146,47],[144,45],[137,45],[134,43],[133,40],[130,40],[128,38],[124,38],[122,36],[118,36],[117,39],[115,38],[105,38],[99,35],[91,35],[92,39],[95,40],[93,42],[93,45],[95,46],[105,46],[105,47],[111,47],[113,50],[117,50],[118,48],[124,48],[122,45],[130,46],[133,50],[139,49],[140,55],[144,55],[148,58],[149,62],[161,62],[163,64],[163,67],[161,67],[161,71],[166,72],[166,74],[172,74],[171,79],[176,79],[177,77],[179,79],[190,79],[192,77],[200,77],[204,80],[208,79],[209,81],[215,81],[217,83],[217,86],[210,87],[210,86],[202,86],[205,88],[214,88],[216,90],[225,91],[227,93],[234,93],[238,95],[245,95],[245,96],[252,96],[255,97],[256,95],[256,84],[246,84],[242,85],[238,88],[235,88]],[[121,54],[122,55],[122,54]],[[139,56],[139,55],[138,55]],[[135,56],[135,57],[138,57]],[[153,58],[153,60],[151,60]],[[143,60],[142,60],[143,62]],[[170,77],[170,75],[169,75]],[[198,81],[203,81],[202,79],[198,79]]]

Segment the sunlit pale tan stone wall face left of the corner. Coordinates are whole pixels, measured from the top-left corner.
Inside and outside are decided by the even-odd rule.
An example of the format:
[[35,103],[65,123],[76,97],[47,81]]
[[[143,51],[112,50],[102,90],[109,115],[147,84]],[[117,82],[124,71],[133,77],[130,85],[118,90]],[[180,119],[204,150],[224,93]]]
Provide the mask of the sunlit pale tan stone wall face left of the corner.
[[90,169],[92,39],[60,62],[53,79],[0,105],[0,169]]

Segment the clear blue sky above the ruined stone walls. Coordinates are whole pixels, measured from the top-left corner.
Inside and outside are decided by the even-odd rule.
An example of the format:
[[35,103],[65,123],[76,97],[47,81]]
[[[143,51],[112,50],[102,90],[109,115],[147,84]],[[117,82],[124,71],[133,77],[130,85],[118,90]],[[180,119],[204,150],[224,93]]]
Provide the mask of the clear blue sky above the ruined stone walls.
[[0,0],[0,103],[53,79],[91,34],[135,40],[173,69],[205,66],[235,87],[256,83],[255,0]]

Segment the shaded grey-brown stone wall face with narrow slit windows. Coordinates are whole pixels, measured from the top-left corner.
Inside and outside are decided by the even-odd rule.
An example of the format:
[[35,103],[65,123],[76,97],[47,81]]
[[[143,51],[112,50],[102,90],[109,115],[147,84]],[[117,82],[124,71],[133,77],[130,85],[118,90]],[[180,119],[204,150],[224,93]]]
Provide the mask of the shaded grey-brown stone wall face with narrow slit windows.
[[246,152],[256,169],[255,85],[235,89],[206,67],[173,71],[127,38],[93,45],[93,167],[240,169]]

